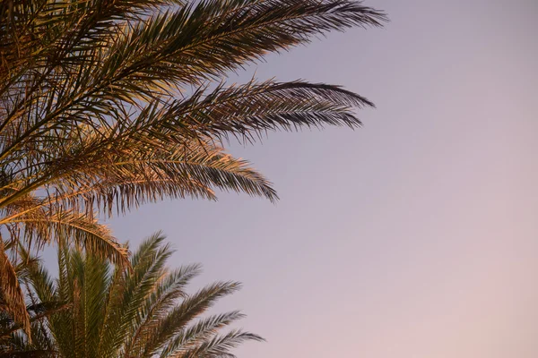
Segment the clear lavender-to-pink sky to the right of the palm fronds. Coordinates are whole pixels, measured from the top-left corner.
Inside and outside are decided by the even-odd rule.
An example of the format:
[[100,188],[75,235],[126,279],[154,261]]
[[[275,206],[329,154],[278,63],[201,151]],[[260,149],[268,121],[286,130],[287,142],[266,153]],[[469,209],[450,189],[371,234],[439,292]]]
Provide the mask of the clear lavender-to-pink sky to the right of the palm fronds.
[[377,104],[358,131],[271,133],[232,151],[275,184],[145,205],[197,284],[244,283],[217,311],[267,339],[256,358],[538,356],[538,1],[369,0],[386,29],[272,55],[263,80],[343,84]]

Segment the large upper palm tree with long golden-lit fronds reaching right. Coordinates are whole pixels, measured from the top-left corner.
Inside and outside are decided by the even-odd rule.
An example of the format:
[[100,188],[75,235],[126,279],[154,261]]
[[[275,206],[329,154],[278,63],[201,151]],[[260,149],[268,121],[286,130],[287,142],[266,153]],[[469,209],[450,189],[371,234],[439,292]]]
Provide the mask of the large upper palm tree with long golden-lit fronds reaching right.
[[[360,125],[373,104],[307,81],[227,84],[265,54],[330,30],[379,26],[354,0],[0,2],[0,291],[28,330],[16,248],[67,236],[128,265],[96,220],[214,189],[276,200],[221,147],[268,131]],[[7,248],[11,247],[12,250]]]

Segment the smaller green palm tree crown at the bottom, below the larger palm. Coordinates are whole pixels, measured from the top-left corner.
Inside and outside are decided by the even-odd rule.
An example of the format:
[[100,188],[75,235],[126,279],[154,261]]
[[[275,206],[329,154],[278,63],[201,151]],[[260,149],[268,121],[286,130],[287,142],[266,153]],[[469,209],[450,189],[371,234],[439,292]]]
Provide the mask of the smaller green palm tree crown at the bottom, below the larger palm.
[[239,311],[201,317],[239,284],[218,282],[187,294],[185,287],[200,267],[169,270],[166,263],[173,251],[163,241],[162,234],[145,240],[130,260],[131,269],[114,269],[107,260],[65,242],[58,250],[56,280],[40,263],[29,265],[32,304],[68,306],[35,320],[31,344],[12,325],[9,339],[4,345],[0,341],[0,357],[3,348],[6,355],[65,358],[232,357],[233,347],[261,340],[238,329],[220,333],[243,317]]

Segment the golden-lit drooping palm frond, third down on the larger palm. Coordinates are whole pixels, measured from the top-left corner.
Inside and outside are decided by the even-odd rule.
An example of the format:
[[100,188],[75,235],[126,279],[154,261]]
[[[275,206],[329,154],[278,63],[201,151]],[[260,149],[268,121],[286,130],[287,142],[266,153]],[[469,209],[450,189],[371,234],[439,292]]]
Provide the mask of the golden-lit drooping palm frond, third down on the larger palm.
[[[25,189],[13,191],[4,198],[11,204],[7,205],[0,224],[39,213],[45,217],[45,211],[52,209],[91,213],[95,208],[112,214],[115,206],[117,211],[124,212],[165,197],[214,199],[213,188],[276,198],[270,183],[246,160],[231,157],[210,141],[170,140],[168,144],[154,141],[153,146],[138,139],[134,141],[128,149],[121,149],[126,143],[117,141],[117,146],[112,146],[115,149],[96,150],[91,156],[88,155],[91,147],[84,147],[82,154],[75,154],[70,163],[52,162],[48,168],[42,166],[39,176],[33,179],[23,175],[26,188],[47,181],[43,186],[48,195],[29,200],[30,194],[23,195]],[[135,150],[136,147],[139,149]],[[62,166],[63,170],[50,166]],[[38,238],[42,242],[48,241],[47,237],[44,232]]]

